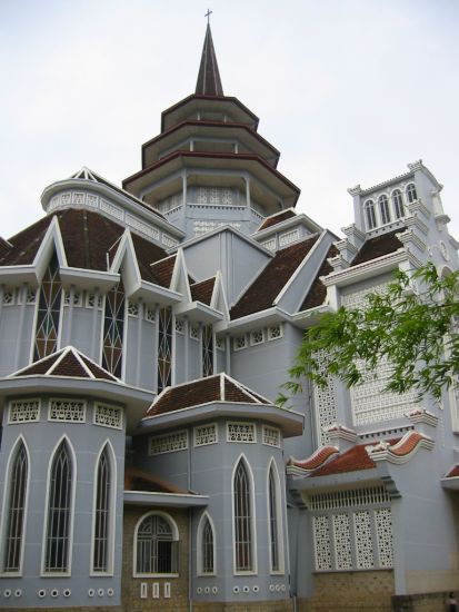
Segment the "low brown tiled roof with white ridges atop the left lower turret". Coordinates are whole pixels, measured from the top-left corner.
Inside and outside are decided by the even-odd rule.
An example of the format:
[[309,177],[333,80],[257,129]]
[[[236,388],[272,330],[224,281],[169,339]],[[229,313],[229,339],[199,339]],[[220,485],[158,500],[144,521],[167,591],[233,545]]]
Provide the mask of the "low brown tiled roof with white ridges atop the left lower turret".
[[11,374],[11,377],[20,376],[67,376],[72,378],[101,378],[103,381],[118,382],[118,378],[94,364],[86,355],[73,348],[66,346],[57,353],[43,357],[42,359],[30,364],[18,372]]

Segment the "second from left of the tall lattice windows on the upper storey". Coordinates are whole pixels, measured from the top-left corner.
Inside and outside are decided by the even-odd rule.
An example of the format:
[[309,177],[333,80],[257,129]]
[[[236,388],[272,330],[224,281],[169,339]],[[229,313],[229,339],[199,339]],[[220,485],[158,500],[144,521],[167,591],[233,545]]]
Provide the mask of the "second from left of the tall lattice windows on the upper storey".
[[126,294],[122,280],[106,296],[102,367],[118,378],[122,374]]

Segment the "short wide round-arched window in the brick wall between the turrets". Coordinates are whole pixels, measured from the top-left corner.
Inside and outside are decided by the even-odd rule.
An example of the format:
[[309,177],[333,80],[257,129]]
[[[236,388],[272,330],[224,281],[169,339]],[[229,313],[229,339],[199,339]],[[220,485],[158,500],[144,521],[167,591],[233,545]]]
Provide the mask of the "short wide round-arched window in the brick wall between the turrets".
[[136,575],[177,574],[178,546],[172,520],[162,513],[148,514],[136,530]]

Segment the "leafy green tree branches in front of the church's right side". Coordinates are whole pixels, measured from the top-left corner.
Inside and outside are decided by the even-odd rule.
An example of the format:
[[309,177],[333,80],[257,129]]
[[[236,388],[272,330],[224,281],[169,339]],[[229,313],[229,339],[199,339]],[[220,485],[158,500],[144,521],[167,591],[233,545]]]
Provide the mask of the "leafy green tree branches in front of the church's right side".
[[411,277],[397,272],[387,289],[369,293],[361,307],[327,313],[306,330],[278,404],[300,393],[305,377],[319,386],[329,375],[358,385],[382,358],[391,367],[387,391],[413,388],[439,398],[459,378],[458,324],[459,272],[440,277],[433,264]]

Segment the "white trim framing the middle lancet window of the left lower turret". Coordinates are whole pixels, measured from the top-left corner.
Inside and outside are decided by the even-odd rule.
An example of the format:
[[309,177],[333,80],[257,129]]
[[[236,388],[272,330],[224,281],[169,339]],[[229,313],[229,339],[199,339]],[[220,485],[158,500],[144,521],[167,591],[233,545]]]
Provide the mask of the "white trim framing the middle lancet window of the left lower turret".
[[[51,481],[51,465],[54,460],[56,452],[62,442],[66,442],[72,462],[72,483],[71,483],[71,511],[70,511],[70,527],[69,527],[69,549],[68,549],[68,570],[67,572],[47,572],[44,570],[46,565],[46,552],[47,552],[47,536],[48,536],[48,514],[49,514],[49,492],[50,492],[50,481]],[[50,458],[48,461],[48,474],[47,474],[47,487],[46,487],[46,497],[44,497],[44,517],[43,517],[43,535],[41,540],[41,564],[40,564],[40,576],[41,578],[57,578],[57,576],[70,576],[72,571],[72,553],[73,553],[73,526],[74,526],[74,497],[77,490],[77,456],[73,450],[73,445],[70,442],[70,438],[63,434],[54,444],[53,450],[51,451]]]

